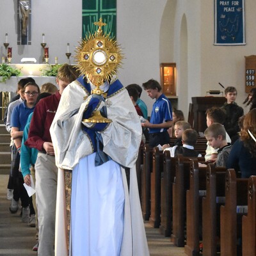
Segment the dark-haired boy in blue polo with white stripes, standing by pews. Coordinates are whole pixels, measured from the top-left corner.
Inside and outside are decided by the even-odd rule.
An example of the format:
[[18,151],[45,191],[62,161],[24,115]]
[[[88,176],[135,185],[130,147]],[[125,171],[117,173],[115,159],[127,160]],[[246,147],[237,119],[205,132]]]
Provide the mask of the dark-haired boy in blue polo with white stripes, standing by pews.
[[150,122],[148,120],[141,125],[149,129],[149,147],[170,143],[167,129],[172,126],[172,104],[161,92],[161,85],[154,79],[142,84],[144,90],[154,102]]

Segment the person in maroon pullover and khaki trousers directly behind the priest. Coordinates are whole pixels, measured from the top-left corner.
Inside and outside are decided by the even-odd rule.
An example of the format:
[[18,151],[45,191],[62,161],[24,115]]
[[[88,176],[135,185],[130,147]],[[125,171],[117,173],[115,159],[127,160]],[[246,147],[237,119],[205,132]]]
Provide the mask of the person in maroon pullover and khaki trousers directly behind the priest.
[[60,90],[40,100],[36,105],[25,145],[38,150],[36,170],[36,204],[38,209],[38,255],[54,255],[54,225],[58,168],[55,164],[50,127],[61,98],[61,93],[78,77],[74,67],[62,65],[56,77]]

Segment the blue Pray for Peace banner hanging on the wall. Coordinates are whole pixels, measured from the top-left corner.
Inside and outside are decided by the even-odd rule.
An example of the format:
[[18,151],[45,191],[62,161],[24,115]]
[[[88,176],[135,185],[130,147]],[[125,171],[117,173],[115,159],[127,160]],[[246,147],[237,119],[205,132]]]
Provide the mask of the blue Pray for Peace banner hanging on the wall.
[[214,45],[245,45],[244,0],[215,0]]

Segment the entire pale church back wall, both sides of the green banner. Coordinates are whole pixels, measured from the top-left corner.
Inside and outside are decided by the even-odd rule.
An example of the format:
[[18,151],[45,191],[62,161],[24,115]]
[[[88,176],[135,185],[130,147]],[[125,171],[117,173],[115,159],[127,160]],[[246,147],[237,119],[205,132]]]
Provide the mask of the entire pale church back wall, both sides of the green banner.
[[[255,54],[255,0],[245,1],[246,45],[214,46],[214,1],[201,0],[117,0],[117,40],[125,60],[118,70],[126,86],[142,84],[150,78],[160,80],[159,63],[177,63],[179,108],[187,116],[191,97],[205,96],[208,90],[233,85],[238,90],[237,103],[244,93],[244,56]],[[67,42],[74,50],[81,39],[82,1],[32,0],[32,45],[17,45],[17,0],[1,0],[0,55],[3,56],[5,33],[13,47],[12,63],[23,57],[42,62],[42,33],[49,46],[50,63],[58,57],[67,62]],[[145,92],[142,99],[152,109]]]

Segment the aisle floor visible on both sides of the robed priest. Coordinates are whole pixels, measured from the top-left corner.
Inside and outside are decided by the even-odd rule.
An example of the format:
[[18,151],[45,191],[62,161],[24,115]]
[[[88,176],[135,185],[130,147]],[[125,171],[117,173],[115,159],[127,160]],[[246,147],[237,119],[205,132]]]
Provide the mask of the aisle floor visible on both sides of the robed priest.
[[[8,175],[0,175],[0,255],[36,256],[32,248],[35,245],[35,228],[21,222],[20,210],[16,214],[9,211],[10,200],[6,199]],[[145,223],[150,256],[185,256],[184,248],[177,248],[170,237],[159,234],[157,228]]]

